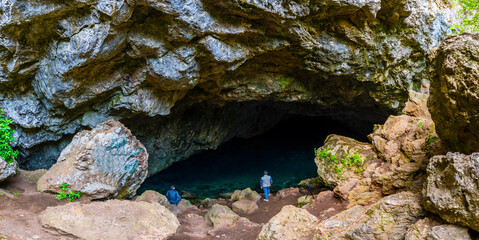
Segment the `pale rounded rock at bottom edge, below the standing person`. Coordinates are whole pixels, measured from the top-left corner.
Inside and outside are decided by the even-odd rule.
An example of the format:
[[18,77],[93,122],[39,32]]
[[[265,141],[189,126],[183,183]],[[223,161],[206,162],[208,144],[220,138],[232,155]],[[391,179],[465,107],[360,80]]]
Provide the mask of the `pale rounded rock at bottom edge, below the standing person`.
[[286,205],[261,229],[257,240],[311,239],[318,219],[305,209]]

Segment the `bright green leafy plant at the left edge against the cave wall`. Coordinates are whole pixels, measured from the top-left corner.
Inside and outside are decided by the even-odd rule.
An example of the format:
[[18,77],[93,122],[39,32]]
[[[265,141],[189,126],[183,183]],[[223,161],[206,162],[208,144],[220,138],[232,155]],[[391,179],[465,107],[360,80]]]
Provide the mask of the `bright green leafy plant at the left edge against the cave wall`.
[[18,156],[18,150],[13,151],[10,143],[15,143],[13,134],[15,131],[10,127],[13,121],[5,118],[3,109],[0,109],[0,157],[8,164],[11,164],[13,160]]

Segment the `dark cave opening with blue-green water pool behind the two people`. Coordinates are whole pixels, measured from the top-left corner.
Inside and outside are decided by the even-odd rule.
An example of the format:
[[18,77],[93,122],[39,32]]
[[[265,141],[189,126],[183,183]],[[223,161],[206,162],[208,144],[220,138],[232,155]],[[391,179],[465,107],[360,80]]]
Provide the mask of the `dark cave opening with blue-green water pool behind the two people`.
[[248,187],[260,192],[264,170],[273,178],[272,192],[295,187],[303,179],[317,177],[313,149],[322,146],[329,134],[367,141],[365,133],[372,127],[359,130],[330,117],[287,115],[261,135],[233,138],[216,150],[174,163],[147,178],[138,194],[146,190],[165,194],[171,185],[199,199]]

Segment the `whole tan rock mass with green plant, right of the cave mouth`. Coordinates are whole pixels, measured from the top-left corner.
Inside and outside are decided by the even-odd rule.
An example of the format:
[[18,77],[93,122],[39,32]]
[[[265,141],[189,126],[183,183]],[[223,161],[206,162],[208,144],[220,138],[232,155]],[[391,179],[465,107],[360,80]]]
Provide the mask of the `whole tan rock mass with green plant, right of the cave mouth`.
[[429,158],[443,153],[426,94],[411,91],[403,114],[376,125],[371,143],[330,135],[316,150],[320,182],[349,201],[349,206],[370,204],[398,189],[420,190],[417,176]]

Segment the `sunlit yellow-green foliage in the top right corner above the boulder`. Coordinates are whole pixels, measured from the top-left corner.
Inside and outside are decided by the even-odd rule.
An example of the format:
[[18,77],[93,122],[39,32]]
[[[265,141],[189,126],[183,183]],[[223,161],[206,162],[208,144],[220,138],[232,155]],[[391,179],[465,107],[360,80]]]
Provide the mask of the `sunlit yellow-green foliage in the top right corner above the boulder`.
[[479,31],[479,0],[453,0],[453,6],[459,7],[460,24],[453,24],[449,35]]

